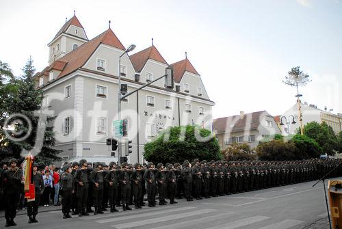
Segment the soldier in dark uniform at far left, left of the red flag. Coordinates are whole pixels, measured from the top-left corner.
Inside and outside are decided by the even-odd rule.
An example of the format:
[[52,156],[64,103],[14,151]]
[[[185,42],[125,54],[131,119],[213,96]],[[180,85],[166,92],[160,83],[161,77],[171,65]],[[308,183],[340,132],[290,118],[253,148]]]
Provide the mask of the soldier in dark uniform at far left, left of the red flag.
[[10,160],[10,168],[3,173],[6,227],[16,226],[16,208],[23,184],[23,172],[18,168],[16,159]]

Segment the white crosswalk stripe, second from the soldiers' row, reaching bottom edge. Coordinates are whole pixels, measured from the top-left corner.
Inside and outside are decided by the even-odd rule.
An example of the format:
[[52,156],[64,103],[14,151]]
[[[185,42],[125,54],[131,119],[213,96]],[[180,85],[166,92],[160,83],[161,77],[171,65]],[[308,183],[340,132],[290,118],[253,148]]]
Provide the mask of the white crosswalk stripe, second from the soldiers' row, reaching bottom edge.
[[214,211],[216,211],[216,210],[215,209],[203,209],[203,210],[198,210],[198,211],[192,211],[189,213],[180,213],[180,214],[176,214],[176,215],[168,215],[168,216],[157,217],[157,218],[153,217],[152,219],[144,219],[144,220],[134,221],[134,222],[125,223],[125,224],[111,225],[111,227],[115,227],[118,229],[133,228],[133,227],[137,227],[137,226],[145,226],[147,224],[156,224],[156,223],[160,223],[163,221],[169,221],[169,220],[174,220],[174,219],[191,217],[194,215],[202,215],[202,214],[206,214],[206,213],[212,213]]

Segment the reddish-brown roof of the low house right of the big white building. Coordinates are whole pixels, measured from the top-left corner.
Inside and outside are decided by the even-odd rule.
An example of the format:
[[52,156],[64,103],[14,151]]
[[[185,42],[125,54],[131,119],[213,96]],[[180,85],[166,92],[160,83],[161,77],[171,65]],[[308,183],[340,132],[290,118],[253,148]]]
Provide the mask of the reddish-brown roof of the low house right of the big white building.
[[[260,125],[261,115],[270,116],[267,111],[257,111],[252,113],[245,113],[241,119],[241,115],[228,116],[224,118],[217,118],[213,120],[213,126],[216,133],[226,133],[244,131],[246,126],[248,129],[257,129]],[[246,123],[247,117],[251,116],[250,122]],[[272,116],[271,116],[272,117]],[[233,126],[232,126],[233,125]]]

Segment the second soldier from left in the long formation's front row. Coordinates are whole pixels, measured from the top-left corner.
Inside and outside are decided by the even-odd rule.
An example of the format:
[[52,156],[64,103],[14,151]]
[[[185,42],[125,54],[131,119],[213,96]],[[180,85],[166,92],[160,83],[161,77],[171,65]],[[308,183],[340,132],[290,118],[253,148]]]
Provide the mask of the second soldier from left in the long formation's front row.
[[79,161],[81,168],[77,170],[75,175],[75,182],[77,183],[77,208],[79,209],[79,217],[82,215],[89,215],[86,213],[88,188],[89,188],[89,172],[92,168],[88,167],[85,159]]

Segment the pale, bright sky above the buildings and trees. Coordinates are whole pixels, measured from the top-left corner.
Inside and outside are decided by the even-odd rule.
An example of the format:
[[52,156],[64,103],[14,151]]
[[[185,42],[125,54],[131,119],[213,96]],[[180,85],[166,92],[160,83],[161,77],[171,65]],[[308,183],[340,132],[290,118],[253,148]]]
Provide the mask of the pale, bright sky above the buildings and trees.
[[[76,16],[94,38],[108,28],[135,51],[154,44],[172,64],[187,57],[201,75],[213,118],[240,111],[276,116],[295,103],[282,83],[292,67],[311,82],[302,101],[342,113],[342,0],[1,0],[0,60],[16,75],[26,60],[47,66],[47,44]],[[134,51],[134,52],[135,52]]]

